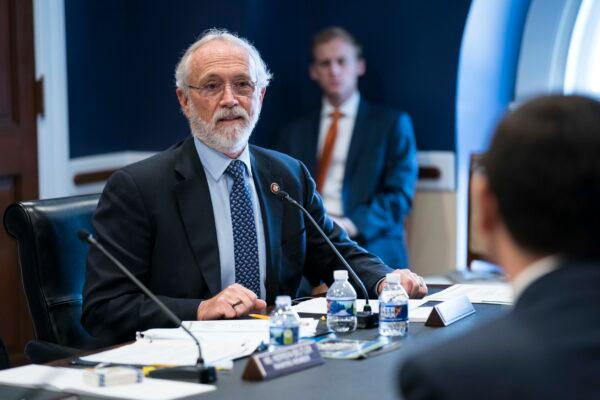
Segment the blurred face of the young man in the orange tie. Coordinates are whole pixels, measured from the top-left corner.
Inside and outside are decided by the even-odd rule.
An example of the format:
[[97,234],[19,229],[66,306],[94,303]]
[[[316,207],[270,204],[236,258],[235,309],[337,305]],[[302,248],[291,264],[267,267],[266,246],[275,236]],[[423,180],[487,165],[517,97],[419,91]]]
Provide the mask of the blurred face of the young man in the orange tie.
[[357,58],[354,46],[342,38],[318,45],[313,50],[310,77],[319,83],[325,96],[335,105],[354,93],[358,77],[365,73],[365,62]]

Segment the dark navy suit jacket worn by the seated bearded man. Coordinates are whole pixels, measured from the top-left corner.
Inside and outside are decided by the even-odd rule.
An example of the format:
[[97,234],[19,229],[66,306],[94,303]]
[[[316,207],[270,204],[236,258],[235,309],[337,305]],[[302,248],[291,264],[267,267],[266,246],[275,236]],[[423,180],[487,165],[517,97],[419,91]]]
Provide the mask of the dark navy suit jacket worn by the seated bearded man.
[[[270,193],[277,182],[309,210],[337,249],[376,296],[379,279],[391,272],[326,216],[304,165],[284,154],[250,147],[267,248],[267,302],[295,296],[304,275],[333,281],[338,260],[301,212]],[[219,293],[221,272],[215,221],[206,175],[193,139],[127,166],[108,180],[94,214],[98,240],[156,293],[182,320],[195,320],[202,299]],[[88,255],[83,290],[84,327],[113,342],[136,331],[171,323],[101,253]]]

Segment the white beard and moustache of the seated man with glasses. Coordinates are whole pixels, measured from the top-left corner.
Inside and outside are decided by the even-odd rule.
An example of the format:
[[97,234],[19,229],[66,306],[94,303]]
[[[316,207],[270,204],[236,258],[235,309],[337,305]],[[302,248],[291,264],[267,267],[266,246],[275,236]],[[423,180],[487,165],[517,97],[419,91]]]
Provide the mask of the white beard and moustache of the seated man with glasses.
[[[260,108],[250,117],[243,107],[237,105],[219,108],[207,123],[198,115],[194,103],[189,102],[189,110],[192,134],[208,147],[224,154],[238,153],[246,147],[260,115]],[[241,117],[241,120],[229,126],[217,127],[219,120],[227,117]]]

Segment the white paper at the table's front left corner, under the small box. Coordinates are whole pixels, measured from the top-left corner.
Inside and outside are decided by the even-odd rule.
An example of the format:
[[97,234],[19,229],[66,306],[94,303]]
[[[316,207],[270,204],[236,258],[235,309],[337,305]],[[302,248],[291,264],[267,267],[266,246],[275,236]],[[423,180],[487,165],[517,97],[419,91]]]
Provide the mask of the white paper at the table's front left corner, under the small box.
[[[0,383],[132,400],[178,399],[216,389],[213,385],[151,378],[144,378],[140,383],[128,385],[96,387],[84,383],[83,371],[45,365],[27,365],[0,371]],[[25,394],[31,393],[27,393],[27,389],[24,389],[23,395]]]

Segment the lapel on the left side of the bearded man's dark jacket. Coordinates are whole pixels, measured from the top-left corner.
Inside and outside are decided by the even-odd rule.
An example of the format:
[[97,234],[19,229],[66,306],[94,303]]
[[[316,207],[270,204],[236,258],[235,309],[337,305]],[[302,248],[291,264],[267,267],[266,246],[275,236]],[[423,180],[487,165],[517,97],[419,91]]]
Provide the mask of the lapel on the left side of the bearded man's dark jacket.
[[186,139],[181,146],[175,171],[182,178],[175,186],[181,222],[194,252],[196,264],[210,290],[210,295],[214,296],[221,291],[217,231],[206,175],[193,138]]

